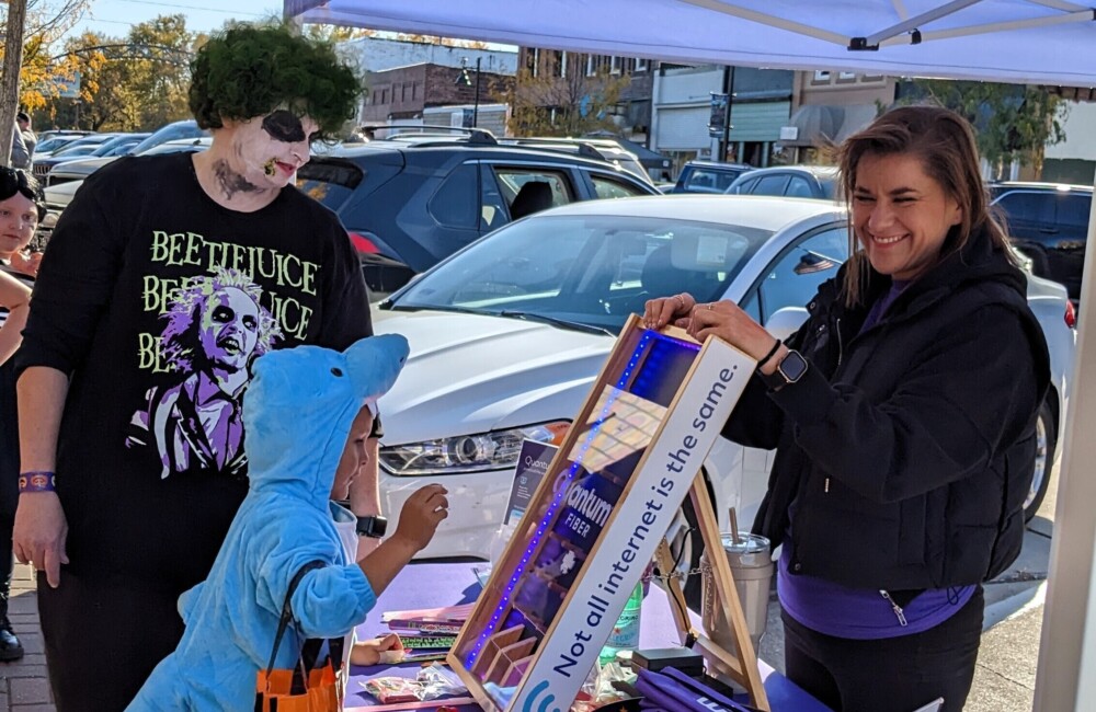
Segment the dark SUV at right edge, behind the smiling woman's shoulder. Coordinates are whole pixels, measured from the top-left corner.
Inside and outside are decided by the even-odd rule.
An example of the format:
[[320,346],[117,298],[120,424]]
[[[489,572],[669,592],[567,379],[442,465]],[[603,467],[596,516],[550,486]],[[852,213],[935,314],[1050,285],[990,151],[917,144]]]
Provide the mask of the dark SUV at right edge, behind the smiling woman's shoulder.
[[1081,299],[1093,188],[1005,182],[991,184],[990,194],[1035,274],[1065,285],[1070,299]]

